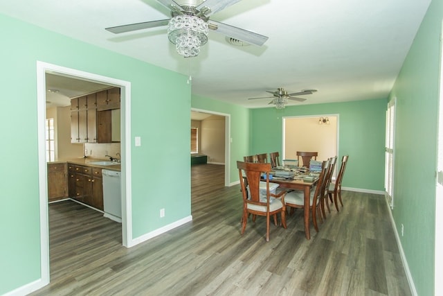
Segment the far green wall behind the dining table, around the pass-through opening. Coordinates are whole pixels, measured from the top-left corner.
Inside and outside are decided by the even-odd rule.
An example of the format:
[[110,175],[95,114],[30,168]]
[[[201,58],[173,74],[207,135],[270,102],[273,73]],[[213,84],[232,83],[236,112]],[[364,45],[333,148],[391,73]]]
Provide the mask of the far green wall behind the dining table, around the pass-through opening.
[[343,186],[384,191],[386,105],[386,99],[379,99],[255,109],[249,153],[281,153],[282,117],[338,114],[338,159],[341,162],[343,155],[350,155]]

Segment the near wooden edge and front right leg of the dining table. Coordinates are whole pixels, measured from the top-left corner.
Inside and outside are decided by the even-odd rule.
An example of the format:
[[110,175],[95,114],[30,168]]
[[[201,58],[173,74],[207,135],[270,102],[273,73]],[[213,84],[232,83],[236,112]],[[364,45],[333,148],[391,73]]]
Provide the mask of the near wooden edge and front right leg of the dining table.
[[304,195],[304,206],[303,206],[303,217],[305,221],[305,235],[307,239],[311,239],[311,234],[309,232],[309,211],[311,210],[309,207],[310,204],[310,196],[311,189],[318,182],[318,177],[315,178],[312,182],[306,182],[303,180],[285,180],[284,178],[273,177],[269,182],[279,184],[279,188],[281,189],[293,189],[293,190],[301,190]]

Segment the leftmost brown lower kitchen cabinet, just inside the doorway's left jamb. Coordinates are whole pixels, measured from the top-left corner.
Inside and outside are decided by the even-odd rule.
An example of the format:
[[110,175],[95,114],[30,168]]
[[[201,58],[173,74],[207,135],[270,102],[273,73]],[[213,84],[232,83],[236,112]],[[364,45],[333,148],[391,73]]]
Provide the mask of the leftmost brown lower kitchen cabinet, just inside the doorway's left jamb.
[[66,163],[48,164],[48,201],[62,200],[68,197],[68,178]]

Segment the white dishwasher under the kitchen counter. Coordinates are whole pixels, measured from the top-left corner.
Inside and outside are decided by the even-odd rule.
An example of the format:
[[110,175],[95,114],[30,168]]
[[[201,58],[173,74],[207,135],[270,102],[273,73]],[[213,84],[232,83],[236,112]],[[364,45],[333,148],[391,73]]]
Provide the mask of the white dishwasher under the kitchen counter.
[[106,218],[122,222],[121,173],[118,171],[102,170],[103,177],[103,208]]

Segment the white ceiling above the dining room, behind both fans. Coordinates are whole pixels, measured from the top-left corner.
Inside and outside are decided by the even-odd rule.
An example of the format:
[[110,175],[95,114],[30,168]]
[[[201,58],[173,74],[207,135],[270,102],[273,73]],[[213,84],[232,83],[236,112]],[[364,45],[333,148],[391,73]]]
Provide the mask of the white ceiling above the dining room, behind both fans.
[[[183,3],[183,0],[177,0]],[[1,1],[0,12],[160,67],[192,75],[192,93],[269,107],[266,90],[318,89],[304,105],[386,98],[431,0],[243,0],[210,19],[269,37],[233,46],[210,31],[197,58],[175,52],[166,28],[114,35],[110,26],[168,19],[155,0]],[[56,85],[55,85],[56,87]]]

